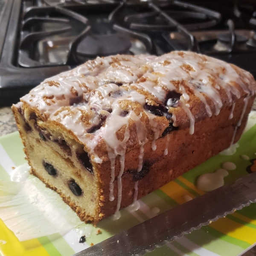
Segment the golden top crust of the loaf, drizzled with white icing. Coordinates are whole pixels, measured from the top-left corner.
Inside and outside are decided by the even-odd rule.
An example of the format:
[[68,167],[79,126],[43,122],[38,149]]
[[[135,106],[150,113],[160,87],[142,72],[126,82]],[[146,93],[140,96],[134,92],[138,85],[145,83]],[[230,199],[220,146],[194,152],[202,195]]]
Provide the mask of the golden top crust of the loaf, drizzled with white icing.
[[96,147],[102,141],[110,160],[134,145],[143,149],[149,140],[155,150],[160,136],[176,127],[189,127],[193,134],[195,122],[218,115],[241,97],[248,101],[255,92],[256,82],[247,71],[175,51],[98,57],[44,80],[21,102],[43,121],[72,133],[92,161],[101,163]]

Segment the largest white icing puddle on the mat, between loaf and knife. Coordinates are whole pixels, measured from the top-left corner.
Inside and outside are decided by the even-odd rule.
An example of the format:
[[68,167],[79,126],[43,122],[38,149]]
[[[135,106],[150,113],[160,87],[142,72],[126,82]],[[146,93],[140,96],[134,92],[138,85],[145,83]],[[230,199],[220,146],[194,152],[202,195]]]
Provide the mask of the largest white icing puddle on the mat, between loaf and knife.
[[203,191],[212,191],[224,185],[224,177],[228,172],[224,169],[218,169],[214,173],[202,174],[197,179],[197,188]]

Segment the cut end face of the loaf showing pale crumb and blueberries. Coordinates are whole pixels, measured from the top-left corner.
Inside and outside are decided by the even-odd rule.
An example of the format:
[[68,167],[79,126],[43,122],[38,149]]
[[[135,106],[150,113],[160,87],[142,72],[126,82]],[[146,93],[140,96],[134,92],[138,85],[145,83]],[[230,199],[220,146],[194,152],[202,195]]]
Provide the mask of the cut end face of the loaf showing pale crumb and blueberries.
[[28,109],[12,106],[31,174],[55,190],[82,221],[97,223],[103,216],[97,175],[84,145],[68,134],[40,126]]

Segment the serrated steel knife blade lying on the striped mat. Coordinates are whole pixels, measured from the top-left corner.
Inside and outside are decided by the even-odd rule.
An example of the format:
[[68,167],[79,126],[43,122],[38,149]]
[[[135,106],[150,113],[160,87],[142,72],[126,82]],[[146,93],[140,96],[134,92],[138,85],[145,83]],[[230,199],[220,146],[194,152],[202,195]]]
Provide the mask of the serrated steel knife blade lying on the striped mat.
[[73,256],[142,256],[254,202],[256,172],[163,212]]

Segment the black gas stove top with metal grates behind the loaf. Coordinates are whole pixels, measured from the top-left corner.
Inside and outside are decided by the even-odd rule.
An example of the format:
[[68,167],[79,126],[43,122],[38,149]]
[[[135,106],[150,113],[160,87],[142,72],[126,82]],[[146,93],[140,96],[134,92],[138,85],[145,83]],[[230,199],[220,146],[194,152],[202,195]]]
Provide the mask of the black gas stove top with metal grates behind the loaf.
[[256,3],[0,0],[0,105],[97,56],[192,50],[256,77]]

